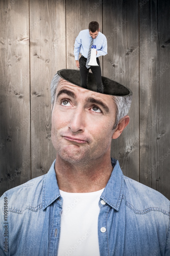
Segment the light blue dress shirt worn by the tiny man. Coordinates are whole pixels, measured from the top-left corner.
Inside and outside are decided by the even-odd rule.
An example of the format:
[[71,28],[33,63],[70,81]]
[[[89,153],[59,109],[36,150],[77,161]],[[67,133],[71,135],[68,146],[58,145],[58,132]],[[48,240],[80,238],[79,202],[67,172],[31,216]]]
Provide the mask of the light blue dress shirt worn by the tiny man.
[[[91,39],[92,37],[90,36],[88,29],[80,31],[79,35],[75,39],[74,44],[75,60],[79,59],[79,52],[81,53],[81,55],[87,58]],[[96,45],[96,58],[107,54],[107,39],[105,35],[100,33],[100,31],[97,37],[93,39],[93,44]]]

